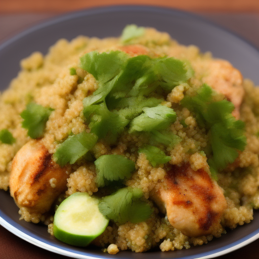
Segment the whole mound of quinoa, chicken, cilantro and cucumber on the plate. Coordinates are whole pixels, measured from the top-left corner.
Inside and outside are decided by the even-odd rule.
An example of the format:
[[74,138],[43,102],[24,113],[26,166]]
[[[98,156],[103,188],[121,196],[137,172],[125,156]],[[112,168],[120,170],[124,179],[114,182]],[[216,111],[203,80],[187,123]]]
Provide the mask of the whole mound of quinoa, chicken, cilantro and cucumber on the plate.
[[111,254],[190,248],[253,219],[259,89],[229,62],[128,25],[21,68],[0,97],[0,188],[21,219]]

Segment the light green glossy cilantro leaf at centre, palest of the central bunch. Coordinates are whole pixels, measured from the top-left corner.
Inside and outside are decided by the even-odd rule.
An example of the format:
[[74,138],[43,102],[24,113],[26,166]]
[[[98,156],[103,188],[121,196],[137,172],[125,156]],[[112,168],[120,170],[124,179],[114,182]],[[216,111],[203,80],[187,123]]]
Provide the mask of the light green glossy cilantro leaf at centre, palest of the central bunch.
[[131,121],[130,133],[134,131],[151,132],[154,130],[164,130],[171,123],[176,121],[176,112],[163,105],[156,107],[144,107],[144,113]]

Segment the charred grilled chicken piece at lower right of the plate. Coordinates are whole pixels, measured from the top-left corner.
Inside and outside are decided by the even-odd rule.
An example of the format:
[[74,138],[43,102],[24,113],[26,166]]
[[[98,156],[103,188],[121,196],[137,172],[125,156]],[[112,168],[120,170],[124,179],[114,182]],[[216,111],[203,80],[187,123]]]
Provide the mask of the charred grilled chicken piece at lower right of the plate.
[[222,189],[204,169],[194,171],[190,164],[172,166],[152,199],[167,213],[169,223],[184,235],[209,235],[220,227],[227,202]]

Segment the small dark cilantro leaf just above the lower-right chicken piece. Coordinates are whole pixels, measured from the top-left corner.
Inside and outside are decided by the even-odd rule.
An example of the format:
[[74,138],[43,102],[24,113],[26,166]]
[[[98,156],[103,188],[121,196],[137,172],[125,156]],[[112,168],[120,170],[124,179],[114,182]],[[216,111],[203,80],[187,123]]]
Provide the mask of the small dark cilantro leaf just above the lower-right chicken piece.
[[144,153],[153,167],[171,160],[171,157],[166,156],[161,149],[150,145],[145,145],[143,148],[140,148],[139,153]]

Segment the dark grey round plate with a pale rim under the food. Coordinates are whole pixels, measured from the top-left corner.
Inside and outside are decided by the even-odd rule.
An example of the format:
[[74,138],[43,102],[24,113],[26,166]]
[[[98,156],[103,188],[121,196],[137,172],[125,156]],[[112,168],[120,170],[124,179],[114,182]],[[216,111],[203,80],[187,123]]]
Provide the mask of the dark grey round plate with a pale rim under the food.
[[[184,45],[196,45],[202,52],[229,60],[244,77],[259,84],[259,52],[238,36],[208,21],[177,10],[147,6],[113,6],[79,11],[34,26],[0,46],[0,89],[6,89],[19,71],[19,61],[33,51],[47,53],[59,38],[77,35],[119,36],[126,24],[155,27],[168,32]],[[64,244],[47,232],[46,226],[19,221],[18,207],[8,192],[0,191],[0,224],[24,240],[47,250],[74,258],[114,258],[94,247],[80,248]],[[212,258],[238,249],[259,238],[259,211],[250,224],[214,238],[206,245],[178,251],[146,253],[122,251],[116,258],[166,259]]]

